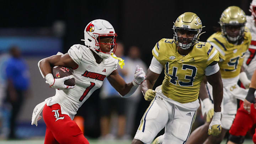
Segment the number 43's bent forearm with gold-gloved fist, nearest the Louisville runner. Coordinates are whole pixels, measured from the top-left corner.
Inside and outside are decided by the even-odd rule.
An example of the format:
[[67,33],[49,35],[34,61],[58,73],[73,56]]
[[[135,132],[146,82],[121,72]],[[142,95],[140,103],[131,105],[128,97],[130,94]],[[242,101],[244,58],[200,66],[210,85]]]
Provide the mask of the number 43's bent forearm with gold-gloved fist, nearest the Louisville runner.
[[152,88],[156,80],[158,79],[159,75],[160,74],[154,73],[153,71],[148,69],[146,73],[145,82],[142,83],[141,87],[142,93],[146,101],[151,101],[155,97],[156,92],[152,90]]

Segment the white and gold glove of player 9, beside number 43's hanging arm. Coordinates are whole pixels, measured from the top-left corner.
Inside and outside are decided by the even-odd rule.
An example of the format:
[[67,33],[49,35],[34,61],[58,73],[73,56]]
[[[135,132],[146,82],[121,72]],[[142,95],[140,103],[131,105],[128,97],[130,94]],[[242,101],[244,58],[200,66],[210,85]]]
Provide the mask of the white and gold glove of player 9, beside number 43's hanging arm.
[[205,98],[203,101],[203,108],[206,113],[206,122],[210,122],[210,119],[213,117],[214,114],[214,105],[210,101],[210,98]]

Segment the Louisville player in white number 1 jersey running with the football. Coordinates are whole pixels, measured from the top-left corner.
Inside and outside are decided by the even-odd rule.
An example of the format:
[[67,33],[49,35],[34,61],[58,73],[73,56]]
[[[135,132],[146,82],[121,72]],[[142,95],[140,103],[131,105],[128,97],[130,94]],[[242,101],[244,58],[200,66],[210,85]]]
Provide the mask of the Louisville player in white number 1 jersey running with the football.
[[[101,87],[107,77],[121,97],[129,97],[145,80],[142,68],[135,70],[134,80],[126,83],[118,74],[118,58],[113,55],[116,49],[117,34],[106,20],[91,21],[84,31],[85,46],[73,45],[64,55],[53,55],[38,62],[39,70],[50,87],[56,89],[53,97],[38,104],[32,114],[32,123],[37,125],[43,111],[46,123],[44,144],[89,144],[83,133],[72,121],[78,108]],[[123,60],[119,61],[123,66]],[[53,66],[73,69],[73,75],[54,79]],[[75,78],[75,86],[64,85],[64,81]]]

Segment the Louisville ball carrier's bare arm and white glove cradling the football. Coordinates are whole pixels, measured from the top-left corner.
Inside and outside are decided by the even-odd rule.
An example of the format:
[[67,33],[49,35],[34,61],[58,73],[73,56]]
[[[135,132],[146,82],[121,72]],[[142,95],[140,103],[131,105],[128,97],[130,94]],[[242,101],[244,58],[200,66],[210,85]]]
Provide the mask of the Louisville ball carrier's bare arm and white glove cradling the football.
[[50,85],[50,87],[63,90],[66,88],[74,88],[74,86],[67,86],[64,84],[65,80],[70,79],[70,76],[65,76],[60,79],[54,79],[52,75],[53,66],[64,66],[68,68],[77,68],[78,64],[76,64],[73,59],[69,56],[68,53],[64,55],[53,55],[48,58],[44,58],[39,61],[39,68],[46,79],[46,83]]

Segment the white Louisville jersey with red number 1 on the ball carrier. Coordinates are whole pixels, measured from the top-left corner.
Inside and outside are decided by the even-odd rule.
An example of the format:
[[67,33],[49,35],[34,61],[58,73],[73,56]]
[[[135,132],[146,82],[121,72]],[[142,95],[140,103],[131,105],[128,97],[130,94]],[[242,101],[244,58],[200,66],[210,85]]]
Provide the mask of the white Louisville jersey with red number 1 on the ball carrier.
[[62,113],[68,114],[73,119],[78,108],[101,87],[103,80],[117,69],[118,60],[109,57],[98,64],[90,48],[81,44],[73,45],[68,50],[68,54],[78,64],[78,68],[73,70],[75,87],[56,89],[55,96],[47,98],[46,103],[48,106],[58,103]]

